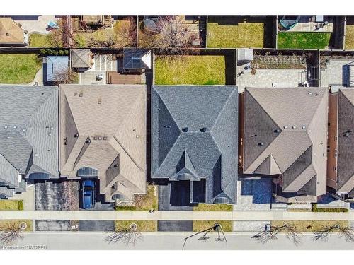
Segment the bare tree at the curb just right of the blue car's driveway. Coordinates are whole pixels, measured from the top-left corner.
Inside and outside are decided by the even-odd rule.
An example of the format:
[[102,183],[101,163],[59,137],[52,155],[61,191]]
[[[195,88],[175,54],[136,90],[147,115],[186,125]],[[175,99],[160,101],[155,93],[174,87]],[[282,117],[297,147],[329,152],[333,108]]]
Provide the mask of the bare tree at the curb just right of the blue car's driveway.
[[129,228],[115,228],[113,233],[105,237],[105,241],[108,242],[108,244],[122,242],[125,245],[135,245],[138,240],[142,240],[142,234],[137,230],[135,223],[132,223]]

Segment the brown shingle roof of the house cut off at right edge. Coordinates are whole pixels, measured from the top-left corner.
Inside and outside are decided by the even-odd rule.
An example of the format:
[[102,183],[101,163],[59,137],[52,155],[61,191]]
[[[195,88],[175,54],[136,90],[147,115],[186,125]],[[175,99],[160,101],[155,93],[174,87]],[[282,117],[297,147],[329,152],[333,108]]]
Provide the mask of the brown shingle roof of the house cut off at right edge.
[[349,193],[354,189],[354,89],[338,92],[338,192]]

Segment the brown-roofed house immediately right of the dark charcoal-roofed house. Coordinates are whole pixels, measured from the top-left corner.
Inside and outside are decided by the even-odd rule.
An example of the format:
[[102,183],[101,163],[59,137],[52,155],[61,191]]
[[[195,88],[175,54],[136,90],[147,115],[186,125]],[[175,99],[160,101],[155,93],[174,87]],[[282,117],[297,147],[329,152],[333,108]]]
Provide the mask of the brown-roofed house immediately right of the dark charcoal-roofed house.
[[328,90],[246,88],[240,98],[243,177],[273,177],[279,202],[326,194]]

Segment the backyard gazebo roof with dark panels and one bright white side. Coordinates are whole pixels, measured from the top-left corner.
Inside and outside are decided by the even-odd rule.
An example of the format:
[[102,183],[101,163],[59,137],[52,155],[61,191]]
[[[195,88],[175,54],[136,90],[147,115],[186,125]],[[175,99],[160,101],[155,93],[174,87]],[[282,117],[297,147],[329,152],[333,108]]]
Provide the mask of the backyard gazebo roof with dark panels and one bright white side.
[[149,49],[124,49],[124,69],[151,69],[152,52]]

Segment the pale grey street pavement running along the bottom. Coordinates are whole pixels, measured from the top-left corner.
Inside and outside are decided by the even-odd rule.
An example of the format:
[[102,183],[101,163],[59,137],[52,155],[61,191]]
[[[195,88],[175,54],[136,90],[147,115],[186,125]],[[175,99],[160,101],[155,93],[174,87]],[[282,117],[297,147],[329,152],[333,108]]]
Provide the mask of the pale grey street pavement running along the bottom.
[[[125,244],[108,244],[104,241],[104,232],[30,232],[16,245],[45,245],[47,249],[176,249],[181,250],[187,233],[166,233],[152,235],[145,233],[143,240],[135,246]],[[261,244],[251,239],[251,235],[227,235],[227,242],[216,242],[216,235],[210,235],[207,242],[193,237],[185,244],[185,249],[354,249],[354,243],[346,242],[337,235],[331,235],[328,242],[312,241],[312,235],[304,235],[302,244],[298,247],[292,244],[284,235],[278,235],[278,240]]]

